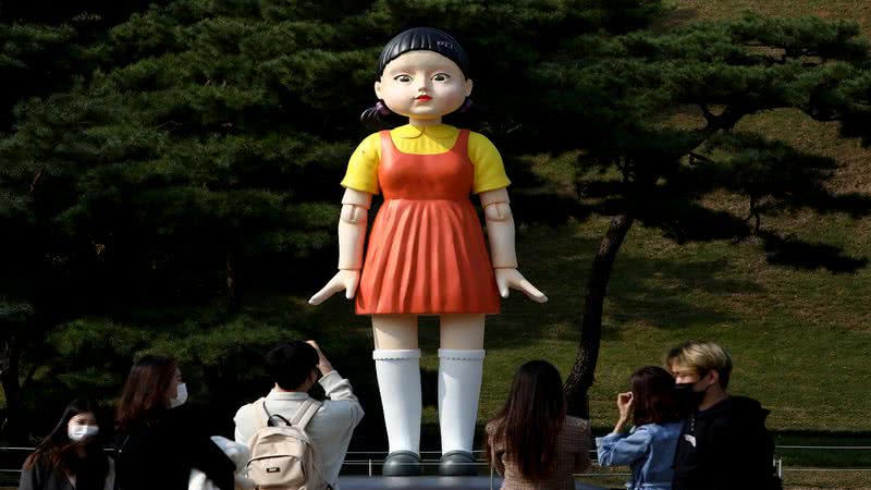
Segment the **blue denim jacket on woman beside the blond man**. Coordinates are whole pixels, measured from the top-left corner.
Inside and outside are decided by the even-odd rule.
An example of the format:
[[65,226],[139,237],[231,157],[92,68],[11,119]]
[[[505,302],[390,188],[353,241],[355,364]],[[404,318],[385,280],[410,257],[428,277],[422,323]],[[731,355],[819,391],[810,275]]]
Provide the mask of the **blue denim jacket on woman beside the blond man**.
[[633,470],[626,483],[630,490],[671,490],[674,454],[683,422],[645,424],[629,433],[596,438],[599,465],[624,466]]

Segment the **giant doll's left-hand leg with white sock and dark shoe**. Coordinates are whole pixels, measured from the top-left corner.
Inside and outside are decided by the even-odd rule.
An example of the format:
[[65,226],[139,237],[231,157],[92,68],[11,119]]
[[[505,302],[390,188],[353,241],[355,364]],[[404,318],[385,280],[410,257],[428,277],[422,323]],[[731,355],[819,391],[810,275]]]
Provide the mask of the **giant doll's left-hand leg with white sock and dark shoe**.
[[420,350],[417,317],[373,315],[376,375],[390,454],[383,475],[420,474]]

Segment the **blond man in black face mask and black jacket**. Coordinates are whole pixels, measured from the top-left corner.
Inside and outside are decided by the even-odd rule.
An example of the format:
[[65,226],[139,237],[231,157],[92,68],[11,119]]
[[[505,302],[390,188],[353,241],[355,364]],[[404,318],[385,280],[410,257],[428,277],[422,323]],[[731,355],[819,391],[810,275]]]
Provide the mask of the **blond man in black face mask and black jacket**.
[[688,417],[674,460],[674,490],[782,489],[769,411],[726,391],[732,356],[713,342],[689,341],[671,350],[665,367]]

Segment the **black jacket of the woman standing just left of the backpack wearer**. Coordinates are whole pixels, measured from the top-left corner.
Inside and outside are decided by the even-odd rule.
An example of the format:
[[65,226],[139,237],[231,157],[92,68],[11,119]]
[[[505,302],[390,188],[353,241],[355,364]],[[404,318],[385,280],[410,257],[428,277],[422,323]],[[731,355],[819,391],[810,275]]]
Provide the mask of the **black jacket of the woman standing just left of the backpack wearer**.
[[233,490],[235,465],[201,429],[187,406],[173,408],[150,427],[119,431],[119,490],[187,490],[197,468],[221,490]]

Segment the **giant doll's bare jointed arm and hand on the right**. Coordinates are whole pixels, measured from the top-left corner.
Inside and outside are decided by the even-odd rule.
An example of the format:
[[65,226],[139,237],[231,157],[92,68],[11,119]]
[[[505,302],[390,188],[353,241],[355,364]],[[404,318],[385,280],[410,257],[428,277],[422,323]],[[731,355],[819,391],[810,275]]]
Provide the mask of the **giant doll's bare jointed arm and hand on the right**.
[[480,194],[487,236],[490,238],[490,260],[502,297],[508,297],[508,287],[526,293],[532,301],[544,303],[548,296],[536,289],[517,270],[514,246],[514,217],[511,213],[508,192],[503,187]]

